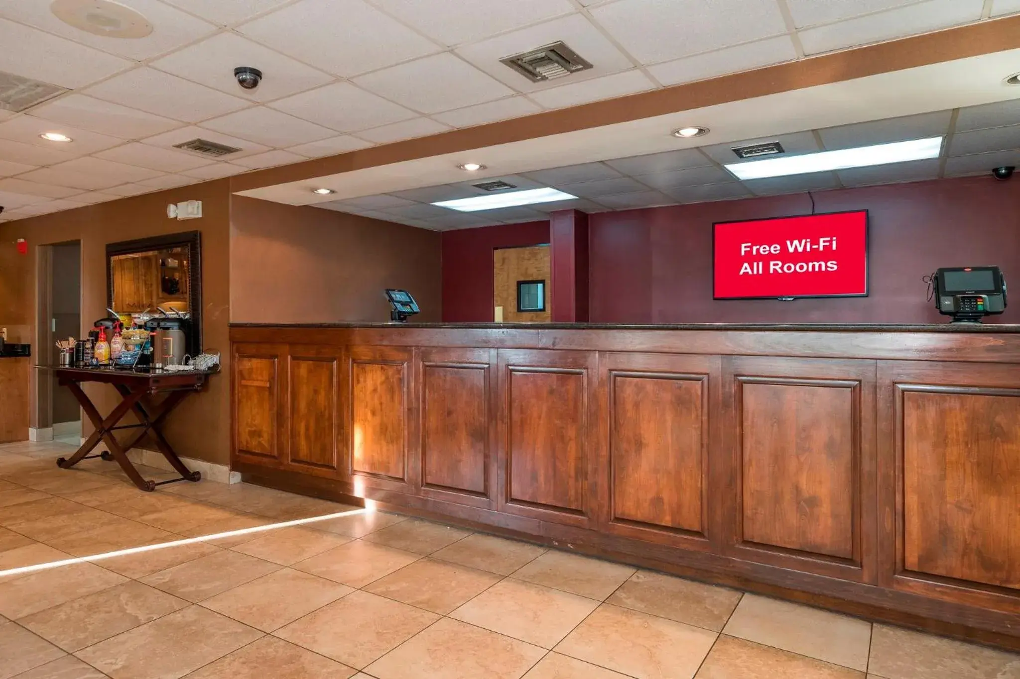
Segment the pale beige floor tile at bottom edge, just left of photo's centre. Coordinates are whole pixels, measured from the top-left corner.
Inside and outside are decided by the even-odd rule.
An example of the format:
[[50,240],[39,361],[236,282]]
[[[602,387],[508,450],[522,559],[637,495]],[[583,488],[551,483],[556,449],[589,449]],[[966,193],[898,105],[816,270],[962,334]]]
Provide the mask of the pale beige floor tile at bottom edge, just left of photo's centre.
[[545,650],[444,618],[365,669],[379,679],[518,679]]

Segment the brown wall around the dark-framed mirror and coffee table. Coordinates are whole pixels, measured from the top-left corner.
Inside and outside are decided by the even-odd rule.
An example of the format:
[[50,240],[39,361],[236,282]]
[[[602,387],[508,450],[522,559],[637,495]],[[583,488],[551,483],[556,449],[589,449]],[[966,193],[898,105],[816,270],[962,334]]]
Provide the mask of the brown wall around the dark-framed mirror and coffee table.
[[[227,324],[230,277],[230,181],[226,179],[101,203],[0,224],[0,326],[10,341],[36,343],[36,257],[38,245],[82,241],[82,322],[90,326],[106,315],[106,243],[178,231],[202,232],[203,336],[206,348],[222,351],[228,369]],[[202,201],[204,217],[178,222],[166,217],[166,205]],[[16,253],[14,240],[27,238],[28,256]],[[45,352],[44,352],[45,353]],[[39,355],[38,345],[33,354]],[[91,390],[101,410],[115,403],[108,387]],[[187,399],[169,418],[167,437],[181,455],[216,463],[230,459],[230,404],[225,376],[215,377],[206,391]],[[37,426],[37,425],[33,425]],[[86,431],[91,427],[86,426]]]

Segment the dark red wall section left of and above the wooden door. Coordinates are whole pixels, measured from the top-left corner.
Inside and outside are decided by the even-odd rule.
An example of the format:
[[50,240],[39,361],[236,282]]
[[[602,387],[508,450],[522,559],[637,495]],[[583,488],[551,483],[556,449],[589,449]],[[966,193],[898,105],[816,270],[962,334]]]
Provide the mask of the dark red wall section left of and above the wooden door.
[[549,242],[549,222],[443,232],[443,321],[493,322],[493,249]]

